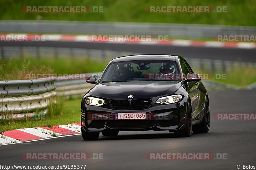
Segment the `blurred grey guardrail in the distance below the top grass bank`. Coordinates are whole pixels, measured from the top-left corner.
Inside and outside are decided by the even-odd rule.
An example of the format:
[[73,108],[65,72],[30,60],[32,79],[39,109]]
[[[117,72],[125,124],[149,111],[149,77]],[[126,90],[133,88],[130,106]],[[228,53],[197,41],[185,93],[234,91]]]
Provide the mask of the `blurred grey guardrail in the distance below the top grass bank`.
[[169,35],[199,38],[213,37],[219,34],[256,34],[256,27],[164,23],[1,20],[0,32]]

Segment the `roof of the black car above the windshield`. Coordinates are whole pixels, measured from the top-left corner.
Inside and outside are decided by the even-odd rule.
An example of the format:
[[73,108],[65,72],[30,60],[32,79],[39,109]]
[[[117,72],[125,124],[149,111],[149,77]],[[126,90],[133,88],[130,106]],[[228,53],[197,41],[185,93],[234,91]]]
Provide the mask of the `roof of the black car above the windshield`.
[[179,55],[167,55],[167,54],[143,54],[143,55],[125,55],[121,57],[116,57],[112,62],[121,62],[121,61],[134,61],[134,60],[170,60],[177,61],[183,57]]

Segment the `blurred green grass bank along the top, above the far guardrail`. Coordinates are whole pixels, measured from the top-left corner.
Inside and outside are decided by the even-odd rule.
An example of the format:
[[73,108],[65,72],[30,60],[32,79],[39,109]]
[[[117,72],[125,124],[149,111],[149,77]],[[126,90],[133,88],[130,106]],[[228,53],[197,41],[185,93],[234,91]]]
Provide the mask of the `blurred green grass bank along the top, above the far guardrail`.
[[[25,13],[23,6],[105,6],[102,13]],[[226,13],[148,13],[147,6],[228,6]],[[255,0],[2,0],[0,19],[155,22],[256,26]]]

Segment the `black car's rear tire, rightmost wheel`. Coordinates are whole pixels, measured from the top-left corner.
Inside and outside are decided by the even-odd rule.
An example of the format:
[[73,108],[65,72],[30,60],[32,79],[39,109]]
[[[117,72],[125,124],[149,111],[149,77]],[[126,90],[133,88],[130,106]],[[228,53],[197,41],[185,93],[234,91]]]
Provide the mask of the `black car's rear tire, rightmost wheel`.
[[208,99],[205,100],[204,117],[199,125],[192,127],[193,133],[207,133],[210,129],[210,109]]

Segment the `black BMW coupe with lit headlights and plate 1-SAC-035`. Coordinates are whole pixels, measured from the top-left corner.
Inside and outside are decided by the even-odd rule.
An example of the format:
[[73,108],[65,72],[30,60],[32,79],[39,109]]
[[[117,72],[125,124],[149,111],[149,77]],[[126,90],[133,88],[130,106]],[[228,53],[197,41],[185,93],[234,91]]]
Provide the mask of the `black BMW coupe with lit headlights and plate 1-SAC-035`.
[[207,133],[209,98],[198,74],[178,55],[129,55],[111,60],[81,103],[84,140],[119,131]]

